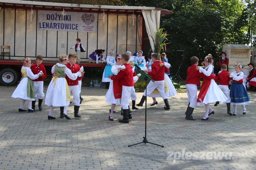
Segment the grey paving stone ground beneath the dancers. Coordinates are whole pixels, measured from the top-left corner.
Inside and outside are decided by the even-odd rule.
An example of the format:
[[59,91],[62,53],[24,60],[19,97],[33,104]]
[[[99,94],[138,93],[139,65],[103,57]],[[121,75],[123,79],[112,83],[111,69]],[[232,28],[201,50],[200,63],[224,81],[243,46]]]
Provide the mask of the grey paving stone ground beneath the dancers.
[[[256,169],[255,92],[249,92],[252,103],[246,105],[246,115],[242,107],[230,116],[226,104],[211,104],[215,114],[207,121],[201,121],[204,106],[195,108],[196,121],[185,120],[186,93],[169,98],[170,111],[163,109],[161,98],[155,106],[148,98],[147,139],[162,148],[144,143],[128,147],[145,136],[145,108],[133,111],[130,123],[122,124],[117,105],[114,121],[109,121],[106,89],[82,87],[82,118],[74,118],[72,103],[71,120],[60,119],[59,108],[54,110],[57,118],[48,120],[50,108],[44,104],[42,111],[18,112],[20,101],[11,98],[15,88],[0,86],[0,170]],[[142,93],[137,96],[138,104]]]

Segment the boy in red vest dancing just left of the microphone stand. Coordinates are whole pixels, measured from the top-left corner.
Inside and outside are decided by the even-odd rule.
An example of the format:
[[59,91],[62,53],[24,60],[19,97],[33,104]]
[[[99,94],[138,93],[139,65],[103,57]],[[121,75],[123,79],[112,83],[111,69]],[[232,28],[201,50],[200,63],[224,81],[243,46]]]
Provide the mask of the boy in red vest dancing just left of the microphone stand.
[[121,62],[125,66],[125,70],[120,70],[118,75],[111,76],[111,80],[120,80],[122,85],[122,97],[121,106],[123,108],[123,119],[119,120],[121,123],[129,123],[129,101],[132,90],[134,88],[133,71],[131,66],[128,64],[129,56],[127,54],[122,54]]

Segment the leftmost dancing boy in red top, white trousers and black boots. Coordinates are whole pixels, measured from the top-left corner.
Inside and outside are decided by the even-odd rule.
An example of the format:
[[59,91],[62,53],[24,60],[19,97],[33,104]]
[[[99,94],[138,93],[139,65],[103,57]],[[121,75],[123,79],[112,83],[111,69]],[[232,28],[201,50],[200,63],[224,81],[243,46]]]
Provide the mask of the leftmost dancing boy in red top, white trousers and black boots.
[[36,56],[36,64],[31,66],[31,71],[33,74],[39,74],[43,72],[42,77],[34,79],[33,85],[35,89],[35,100],[32,101],[32,109],[35,110],[36,98],[38,97],[38,108],[42,110],[42,102],[44,98],[44,78],[47,77],[45,67],[42,65],[43,57],[41,55]]

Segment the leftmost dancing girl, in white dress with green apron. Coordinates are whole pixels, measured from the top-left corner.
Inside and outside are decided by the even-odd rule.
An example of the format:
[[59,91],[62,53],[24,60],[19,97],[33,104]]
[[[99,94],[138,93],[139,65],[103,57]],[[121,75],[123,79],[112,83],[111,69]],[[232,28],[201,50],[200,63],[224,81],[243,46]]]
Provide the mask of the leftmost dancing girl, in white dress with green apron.
[[25,101],[28,100],[28,112],[35,112],[32,109],[32,101],[35,100],[35,91],[32,80],[42,77],[43,73],[33,74],[30,69],[31,60],[30,58],[22,59],[23,66],[21,73],[23,77],[18,84],[18,87],[14,90],[12,97],[21,100],[19,111],[26,111],[23,109]]

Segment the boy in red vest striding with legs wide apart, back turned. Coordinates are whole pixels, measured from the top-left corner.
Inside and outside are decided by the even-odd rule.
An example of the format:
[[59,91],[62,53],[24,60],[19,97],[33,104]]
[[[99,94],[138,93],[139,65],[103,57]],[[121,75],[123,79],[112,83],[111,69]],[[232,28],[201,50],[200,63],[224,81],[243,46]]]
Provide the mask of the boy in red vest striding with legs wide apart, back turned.
[[[159,54],[153,54],[152,55],[152,61],[153,64],[151,65],[151,71],[144,70],[148,75],[152,76],[151,79],[154,80],[150,81],[147,88],[147,94],[146,91],[143,93],[142,99],[137,106],[143,106],[144,101],[146,100],[146,96],[149,96],[156,88],[158,89],[160,95],[162,96],[164,103],[166,105],[165,110],[170,110],[170,105],[168,102],[168,98],[165,93],[165,83],[164,83],[164,72],[168,72],[169,69],[167,67],[160,67],[159,61]],[[148,66],[148,65],[147,65]]]

